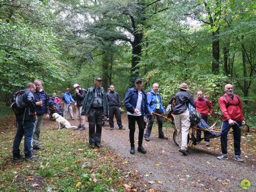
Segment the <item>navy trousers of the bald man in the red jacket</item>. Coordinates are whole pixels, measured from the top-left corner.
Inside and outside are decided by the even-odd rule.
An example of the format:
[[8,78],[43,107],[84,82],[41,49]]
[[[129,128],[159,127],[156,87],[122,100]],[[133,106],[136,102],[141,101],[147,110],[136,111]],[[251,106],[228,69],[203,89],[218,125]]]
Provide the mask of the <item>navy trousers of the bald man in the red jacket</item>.
[[222,122],[221,126],[221,134],[220,134],[220,143],[221,143],[221,151],[223,154],[227,154],[227,145],[228,145],[228,131],[230,130],[231,127],[233,127],[233,137],[234,137],[234,151],[235,155],[240,155],[241,150],[240,150],[240,141],[241,141],[241,126],[242,122],[237,121],[236,122],[239,126],[236,124],[230,126],[228,124],[228,121]]

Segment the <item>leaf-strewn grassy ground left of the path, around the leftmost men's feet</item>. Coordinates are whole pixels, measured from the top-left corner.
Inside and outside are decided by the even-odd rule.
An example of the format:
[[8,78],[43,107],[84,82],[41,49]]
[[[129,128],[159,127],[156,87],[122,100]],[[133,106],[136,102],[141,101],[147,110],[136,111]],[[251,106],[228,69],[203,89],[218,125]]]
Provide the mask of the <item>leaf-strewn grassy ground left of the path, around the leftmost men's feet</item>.
[[[82,132],[43,128],[39,158],[12,160],[15,130],[0,138],[0,191],[122,192],[122,168],[107,148],[90,149]],[[83,133],[84,134],[84,133]],[[23,151],[23,140],[20,150]],[[4,146],[4,147],[2,147]]]

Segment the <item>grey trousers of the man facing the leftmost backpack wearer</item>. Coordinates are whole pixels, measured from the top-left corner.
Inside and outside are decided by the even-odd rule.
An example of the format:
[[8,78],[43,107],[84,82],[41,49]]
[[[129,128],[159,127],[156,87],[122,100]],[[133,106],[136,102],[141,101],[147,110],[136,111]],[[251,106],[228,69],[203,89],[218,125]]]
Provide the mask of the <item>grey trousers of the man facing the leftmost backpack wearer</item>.
[[33,130],[33,139],[31,143],[31,148],[39,146],[39,136],[42,131],[43,122],[44,122],[44,114],[36,115],[36,122]]

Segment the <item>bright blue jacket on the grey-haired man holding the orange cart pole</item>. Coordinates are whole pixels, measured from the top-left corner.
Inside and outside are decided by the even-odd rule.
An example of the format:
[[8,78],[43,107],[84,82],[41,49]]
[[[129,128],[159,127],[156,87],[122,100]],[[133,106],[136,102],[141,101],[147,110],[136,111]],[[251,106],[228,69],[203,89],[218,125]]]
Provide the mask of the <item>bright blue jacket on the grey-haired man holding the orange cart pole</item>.
[[165,110],[164,110],[164,107],[162,104],[160,94],[159,94],[159,92],[154,93],[154,91],[152,89],[150,89],[147,93],[148,111],[149,111],[149,113],[156,111],[156,103],[157,103],[156,97],[158,98],[159,103],[160,103],[160,108],[159,108],[160,113],[164,113]]

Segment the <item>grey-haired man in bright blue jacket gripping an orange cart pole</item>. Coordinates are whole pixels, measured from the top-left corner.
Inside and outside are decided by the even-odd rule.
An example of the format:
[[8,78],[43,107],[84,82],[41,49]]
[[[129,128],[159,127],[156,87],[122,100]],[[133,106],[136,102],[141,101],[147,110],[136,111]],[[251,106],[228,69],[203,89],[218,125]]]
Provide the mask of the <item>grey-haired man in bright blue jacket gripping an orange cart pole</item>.
[[155,117],[156,117],[157,123],[158,123],[158,138],[166,139],[166,140],[168,139],[168,137],[164,136],[164,133],[163,133],[163,118],[162,118],[162,116],[153,114],[153,112],[156,114],[161,114],[161,113],[165,112],[158,89],[159,89],[159,85],[157,83],[154,83],[152,86],[152,89],[150,89],[149,92],[147,93],[148,111],[150,113],[150,116],[148,118],[147,130],[144,135],[146,141],[149,141],[149,137],[151,134],[151,130],[152,130],[152,126],[154,124]]

